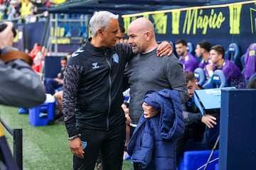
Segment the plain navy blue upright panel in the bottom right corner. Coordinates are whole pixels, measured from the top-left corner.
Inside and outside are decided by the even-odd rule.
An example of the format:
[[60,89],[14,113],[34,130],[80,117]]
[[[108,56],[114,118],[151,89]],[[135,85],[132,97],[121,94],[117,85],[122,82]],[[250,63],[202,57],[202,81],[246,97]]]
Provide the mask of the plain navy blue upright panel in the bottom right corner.
[[219,169],[256,169],[255,99],[255,89],[222,89]]

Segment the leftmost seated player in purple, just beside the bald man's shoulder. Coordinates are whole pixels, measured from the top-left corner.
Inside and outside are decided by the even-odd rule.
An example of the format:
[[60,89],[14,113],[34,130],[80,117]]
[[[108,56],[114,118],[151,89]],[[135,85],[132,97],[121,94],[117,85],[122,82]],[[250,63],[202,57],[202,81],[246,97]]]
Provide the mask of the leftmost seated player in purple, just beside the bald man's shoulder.
[[175,42],[175,49],[178,55],[178,60],[183,65],[184,72],[193,72],[198,67],[196,58],[187,50],[186,40],[177,40]]

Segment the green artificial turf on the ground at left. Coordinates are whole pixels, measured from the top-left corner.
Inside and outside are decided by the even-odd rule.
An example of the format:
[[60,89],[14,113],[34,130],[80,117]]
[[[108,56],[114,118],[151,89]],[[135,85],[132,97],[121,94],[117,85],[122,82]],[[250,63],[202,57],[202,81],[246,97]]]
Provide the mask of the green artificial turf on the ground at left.
[[[64,125],[32,126],[28,114],[19,114],[18,108],[9,106],[0,106],[0,117],[10,128],[22,129],[23,170],[73,169],[73,155]],[[12,151],[12,136],[4,131]],[[130,160],[124,161],[122,169],[133,169]]]

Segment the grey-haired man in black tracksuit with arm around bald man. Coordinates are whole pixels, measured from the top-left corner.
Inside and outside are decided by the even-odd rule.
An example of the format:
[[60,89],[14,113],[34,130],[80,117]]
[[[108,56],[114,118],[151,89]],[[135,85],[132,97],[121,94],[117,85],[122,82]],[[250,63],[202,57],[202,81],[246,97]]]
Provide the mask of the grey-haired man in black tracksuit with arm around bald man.
[[[64,73],[63,113],[74,155],[73,169],[93,170],[102,154],[105,170],[121,170],[125,139],[122,110],[124,67],[134,57],[132,46],[116,43],[118,15],[95,12],[89,38],[73,53]],[[159,55],[171,45],[159,47]]]

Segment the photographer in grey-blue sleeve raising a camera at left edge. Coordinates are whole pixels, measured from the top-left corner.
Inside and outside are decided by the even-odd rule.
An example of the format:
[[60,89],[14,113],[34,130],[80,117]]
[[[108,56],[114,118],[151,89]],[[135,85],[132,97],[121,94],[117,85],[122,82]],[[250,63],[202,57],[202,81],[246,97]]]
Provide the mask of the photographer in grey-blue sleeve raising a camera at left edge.
[[[33,60],[24,52],[11,47],[14,24],[1,23],[0,32],[0,104],[31,108],[46,100],[46,91],[38,74],[31,69]],[[3,30],[4,28],[4,30]]]

